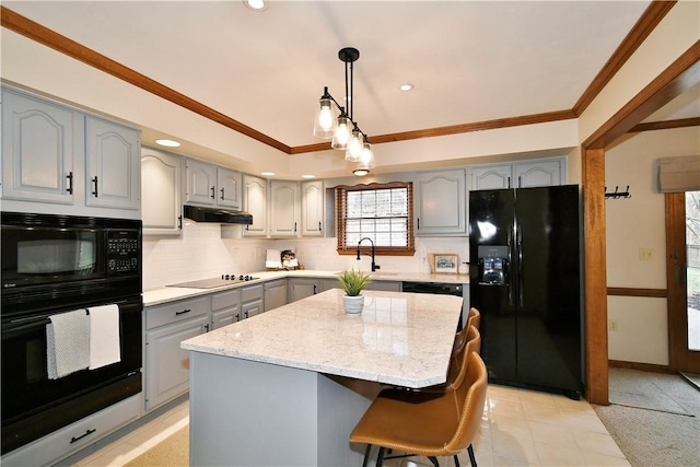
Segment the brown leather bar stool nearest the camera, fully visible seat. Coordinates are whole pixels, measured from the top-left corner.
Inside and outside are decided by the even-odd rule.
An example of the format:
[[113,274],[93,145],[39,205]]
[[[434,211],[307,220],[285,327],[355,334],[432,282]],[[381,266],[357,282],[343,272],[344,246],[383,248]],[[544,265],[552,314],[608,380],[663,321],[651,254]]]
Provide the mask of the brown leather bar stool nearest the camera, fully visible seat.
[[[366,467],[373,445],[380,447],[377,466],[386,450],[425,456],[439,467],[439,456],[454,456],[467,450],[476,467],[472,440],[483,413],[487,369],[477,352],[467,355],[467,369],[462,383],[445,392],[407,392],[385,389],[372,402],[350,434],[351,443],[366,443],[363,467]],[[409,454],[410,453],[410,454]]]

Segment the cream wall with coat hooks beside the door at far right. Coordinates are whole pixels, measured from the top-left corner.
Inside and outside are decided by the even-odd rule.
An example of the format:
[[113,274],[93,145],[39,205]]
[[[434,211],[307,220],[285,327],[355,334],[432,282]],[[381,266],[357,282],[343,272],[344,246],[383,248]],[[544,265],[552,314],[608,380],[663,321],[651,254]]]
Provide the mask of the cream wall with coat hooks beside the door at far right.
[[[608,191],[629,185],[632,195],[605,203],[608,287],[666,289],[665,197],[656,161],[698,153],[698,127],[633,133],[606,150]],[[640,259],[640,248],[650,248],[652,259]],[[608,352],[610,360],[668,364],[666,299],[608,296]]]

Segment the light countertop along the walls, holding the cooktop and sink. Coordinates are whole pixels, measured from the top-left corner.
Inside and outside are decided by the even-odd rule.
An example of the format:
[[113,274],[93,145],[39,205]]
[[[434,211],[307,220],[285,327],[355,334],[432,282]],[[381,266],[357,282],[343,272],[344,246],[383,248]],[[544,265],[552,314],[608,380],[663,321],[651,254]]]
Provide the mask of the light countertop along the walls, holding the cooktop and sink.
[[[237,282],[231,285],[223,285],[215,289],[188,289],[180,287],[161,287],[143,291],[143,305],[154,306],[176,300],[191,299],[210,293],[222,292],[230,289],[249,287],[256,283],[265,283],[275,279],[287,278],[319,278],[332,279],[339,271],[325,271],[318,269],[302,269],[293,271],[258,271],[252,276],[256,280]],[[371,272],[375,281],[413,281],[413,282],[443,282],[443,283],[469,283],[468,275],[432,275],[424,272]],[[203,279],[203,278],[202,278]]]

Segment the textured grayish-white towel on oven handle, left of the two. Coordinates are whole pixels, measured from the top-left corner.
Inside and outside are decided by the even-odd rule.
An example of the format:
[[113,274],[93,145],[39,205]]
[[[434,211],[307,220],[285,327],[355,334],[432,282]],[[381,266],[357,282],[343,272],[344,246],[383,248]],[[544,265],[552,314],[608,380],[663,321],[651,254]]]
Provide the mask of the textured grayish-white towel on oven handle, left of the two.
[[90,317],[75,310],[48,317],[46,366],[49,380],[68,376],[90,365]]

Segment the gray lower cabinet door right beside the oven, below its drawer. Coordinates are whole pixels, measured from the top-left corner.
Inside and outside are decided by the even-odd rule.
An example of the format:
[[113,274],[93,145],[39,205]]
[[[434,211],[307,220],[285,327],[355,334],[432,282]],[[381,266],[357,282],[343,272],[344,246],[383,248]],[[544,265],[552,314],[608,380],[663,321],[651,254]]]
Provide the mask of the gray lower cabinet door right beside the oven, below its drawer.
[[145,410],[189,390],[189,351],[179,343],[209,330],[209,315],[145,332]]

